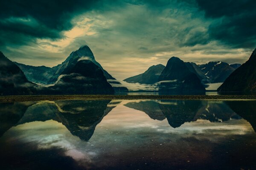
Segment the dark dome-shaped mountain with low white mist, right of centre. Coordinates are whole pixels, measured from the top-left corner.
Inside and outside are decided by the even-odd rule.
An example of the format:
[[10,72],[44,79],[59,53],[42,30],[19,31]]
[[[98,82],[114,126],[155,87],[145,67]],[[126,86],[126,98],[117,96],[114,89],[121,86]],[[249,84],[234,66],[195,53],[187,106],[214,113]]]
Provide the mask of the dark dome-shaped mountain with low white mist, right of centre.
[[159,93],[193,94],[204,93],[205,88],[195,73],[189,71],[178,57],[168,60],[159,76]]

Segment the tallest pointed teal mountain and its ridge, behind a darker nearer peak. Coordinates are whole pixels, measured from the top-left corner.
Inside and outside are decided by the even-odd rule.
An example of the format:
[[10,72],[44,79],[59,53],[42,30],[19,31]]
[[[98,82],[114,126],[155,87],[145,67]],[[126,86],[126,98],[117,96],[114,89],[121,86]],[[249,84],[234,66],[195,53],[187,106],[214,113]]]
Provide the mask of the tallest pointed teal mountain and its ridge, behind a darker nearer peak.
[[[42,84],[42,85],[51,85],[51,84],[55,84],[55,82],[58,80],[58,77],[63,73],[64,70],[73,68],[73,66],[76,65],[76,63],[80,59],[90,60],[103,71],[103,74],[106,77],[106,79],[115,80],[115,78],[113,78],[107,71],[105,71],[102,68],[102,66],[99,64],[99,62],[95,60],[93,52],[90,50],[90,48],[87,45],[84,45],[80,47],[78,50],[73,51],[64,62],[52,68],[45,67],[45,66],[35,67],[31,65],[23,65],[17,62],[16,64],[24,72],[24,74],[26,75],[27,79],[29,79],[29,81]],[[128,92],[128,89],[121,85],[120,87],[115,87],[114,90],[116,92],[120,92],[120,91]]]

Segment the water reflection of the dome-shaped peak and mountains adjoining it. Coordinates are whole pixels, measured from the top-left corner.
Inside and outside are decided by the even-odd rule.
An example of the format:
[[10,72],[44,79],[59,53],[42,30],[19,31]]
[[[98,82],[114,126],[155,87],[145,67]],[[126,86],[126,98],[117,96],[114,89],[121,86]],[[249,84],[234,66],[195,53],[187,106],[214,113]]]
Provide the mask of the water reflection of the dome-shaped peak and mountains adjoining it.
[[143,111],[151,119],[164,120],[167,118],[172,127],[180,127],[185,122],[193,122],[198,119],[210,122],[222,122],[230,118],[241,119],[228,105],[217,101],[150,100],[130,102],[125,106]]

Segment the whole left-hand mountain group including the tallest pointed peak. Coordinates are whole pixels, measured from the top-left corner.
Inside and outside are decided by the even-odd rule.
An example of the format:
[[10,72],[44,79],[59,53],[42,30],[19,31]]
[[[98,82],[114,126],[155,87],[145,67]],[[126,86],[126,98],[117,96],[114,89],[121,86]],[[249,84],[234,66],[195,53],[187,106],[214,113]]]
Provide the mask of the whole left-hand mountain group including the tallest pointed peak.
[[[107,81],[114,78],[96,62],[88,46],[73,51],[61,65],[53,68],[15,64],[0,53],[0,75],[0,95],[114,93]],[[52,82],[55,84],[49,84]],[[120,91],[119,87],[115,89]],[[125,87],[122,90],[128,92]]]

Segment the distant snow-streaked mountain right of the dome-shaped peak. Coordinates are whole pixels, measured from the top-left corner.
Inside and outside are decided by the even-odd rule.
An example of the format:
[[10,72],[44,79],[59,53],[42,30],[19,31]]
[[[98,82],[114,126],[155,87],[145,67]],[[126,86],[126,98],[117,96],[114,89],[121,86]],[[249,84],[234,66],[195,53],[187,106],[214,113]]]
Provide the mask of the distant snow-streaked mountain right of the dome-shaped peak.
[[207,64],[198,65],[201,71],[206,75],[210,83],[224,82],[225,79],[235,71],[226,62],[208,62]]

